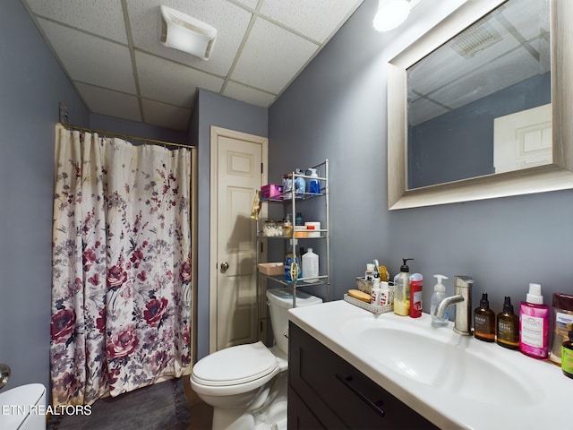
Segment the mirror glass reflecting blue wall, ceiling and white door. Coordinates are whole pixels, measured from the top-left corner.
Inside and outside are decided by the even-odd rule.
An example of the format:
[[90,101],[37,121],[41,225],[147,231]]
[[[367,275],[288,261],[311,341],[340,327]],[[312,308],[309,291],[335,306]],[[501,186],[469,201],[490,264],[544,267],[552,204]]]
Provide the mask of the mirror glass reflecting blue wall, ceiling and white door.
[[552,163],[548,0],[509,0],[406,71],[407,188]]

